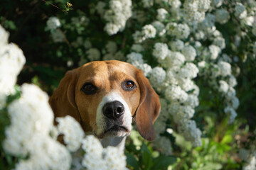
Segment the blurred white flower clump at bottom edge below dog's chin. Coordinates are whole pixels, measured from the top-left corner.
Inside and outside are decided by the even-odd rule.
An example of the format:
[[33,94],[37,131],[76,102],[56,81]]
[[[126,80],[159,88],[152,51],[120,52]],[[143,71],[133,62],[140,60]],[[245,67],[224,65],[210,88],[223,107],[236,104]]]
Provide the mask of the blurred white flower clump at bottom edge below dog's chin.
[[82,149],[86,152],[82,159],[82,166],[88,170],[127,169],[123,151],[117,147],[103,148],[100,141],[93,135],[82,140]]

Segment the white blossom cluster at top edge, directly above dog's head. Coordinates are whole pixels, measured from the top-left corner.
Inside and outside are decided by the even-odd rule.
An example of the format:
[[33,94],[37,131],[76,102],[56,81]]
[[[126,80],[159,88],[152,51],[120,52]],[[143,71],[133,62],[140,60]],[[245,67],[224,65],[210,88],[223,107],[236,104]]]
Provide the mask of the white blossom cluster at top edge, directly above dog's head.
[[105,12],[104,18],[107,21],[105,31],[108,35],[114,35],[118,31],[124,30],[127,20],[132,16],[132,1],[131,0],[111,0],[109,3],[110,9],[103,11],[105,4],[98,3],[100,13]]

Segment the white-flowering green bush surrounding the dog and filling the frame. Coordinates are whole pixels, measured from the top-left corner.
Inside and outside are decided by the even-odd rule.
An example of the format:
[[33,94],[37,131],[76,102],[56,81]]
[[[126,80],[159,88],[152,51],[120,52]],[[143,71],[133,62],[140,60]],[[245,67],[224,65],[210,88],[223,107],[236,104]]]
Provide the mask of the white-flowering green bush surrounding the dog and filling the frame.
[[[0,9],[0,166],[256,169],[255,1],[70,3],[68,13],[60,10],[64,0],[4,0]],[[52,94],[68,69],[95,60],[142,69],[161,98],[156,140],[146,142],[133,131],[127,163],[115,148],[85,137],[71,117],[58,118],[54,127],[48,95],[41,91]],[[17,76],[17,84],[41,89],[15,86]],[[56,141],[58,135],[66,146]]]

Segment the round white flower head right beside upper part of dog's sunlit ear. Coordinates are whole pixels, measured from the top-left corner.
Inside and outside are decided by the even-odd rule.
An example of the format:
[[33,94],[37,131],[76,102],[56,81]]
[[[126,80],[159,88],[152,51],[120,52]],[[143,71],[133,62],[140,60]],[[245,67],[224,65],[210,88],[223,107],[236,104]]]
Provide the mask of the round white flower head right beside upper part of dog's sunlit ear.
[[159,87],[166,78],[166,72],[161,67],[154,67],[151,71],[151,75],[149,77],[149,81],[152,86]]

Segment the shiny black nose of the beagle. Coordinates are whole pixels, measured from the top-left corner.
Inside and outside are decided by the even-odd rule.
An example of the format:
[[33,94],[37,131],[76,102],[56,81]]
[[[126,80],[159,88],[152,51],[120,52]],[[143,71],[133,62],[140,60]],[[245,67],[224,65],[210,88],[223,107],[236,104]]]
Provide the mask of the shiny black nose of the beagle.
[[113,101],[106,103],[102,110],[107,118],[115,119],[124,114],[124,105],[119,101]]

